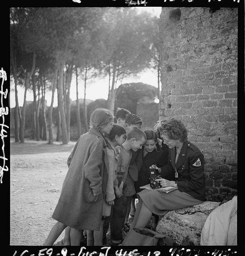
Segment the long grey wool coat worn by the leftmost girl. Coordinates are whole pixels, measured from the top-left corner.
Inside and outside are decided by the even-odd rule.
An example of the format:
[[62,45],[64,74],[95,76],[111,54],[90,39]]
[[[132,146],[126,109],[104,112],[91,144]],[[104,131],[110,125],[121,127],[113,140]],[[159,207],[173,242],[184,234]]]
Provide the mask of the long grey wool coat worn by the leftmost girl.
[[[105,139],[94,128],[81,136],[71,156],[61,195],[52,217],[71,228],[99,230],[109,166]],[[102,199],[87,203],[90,192]]]

